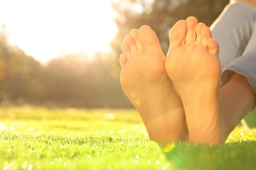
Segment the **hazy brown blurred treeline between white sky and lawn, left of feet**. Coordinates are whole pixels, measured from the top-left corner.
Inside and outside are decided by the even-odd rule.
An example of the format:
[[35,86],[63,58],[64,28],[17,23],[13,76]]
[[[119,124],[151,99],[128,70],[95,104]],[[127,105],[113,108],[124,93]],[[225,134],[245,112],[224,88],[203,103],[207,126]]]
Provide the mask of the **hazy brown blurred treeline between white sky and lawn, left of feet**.
[[[45,66],[11,46],[0,32],[0,103],[47,107],[122,107],[130,105],[119,85],[115,54],[98,52],[56,58]],[[8,102],[7,102],[8,101]],[[5,103],[5,104],[4,104]]]

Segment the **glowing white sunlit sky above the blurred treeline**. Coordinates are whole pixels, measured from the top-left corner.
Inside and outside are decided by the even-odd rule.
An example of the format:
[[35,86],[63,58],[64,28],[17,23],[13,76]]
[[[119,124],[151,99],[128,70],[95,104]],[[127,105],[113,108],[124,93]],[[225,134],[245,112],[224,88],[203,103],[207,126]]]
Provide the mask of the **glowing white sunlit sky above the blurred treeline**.
[[108,52],[117,27],[109,0],[0,0],[9,42],[39,61]]

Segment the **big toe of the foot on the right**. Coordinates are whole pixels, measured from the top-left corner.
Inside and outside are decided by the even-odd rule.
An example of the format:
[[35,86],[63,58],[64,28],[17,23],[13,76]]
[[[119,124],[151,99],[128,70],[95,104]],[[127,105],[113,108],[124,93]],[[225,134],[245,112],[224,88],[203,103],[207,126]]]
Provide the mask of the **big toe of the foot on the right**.
[[186,20],[179,20],[170,32],[170,45],[173,46],[181,46],[184,44],[186,39]]

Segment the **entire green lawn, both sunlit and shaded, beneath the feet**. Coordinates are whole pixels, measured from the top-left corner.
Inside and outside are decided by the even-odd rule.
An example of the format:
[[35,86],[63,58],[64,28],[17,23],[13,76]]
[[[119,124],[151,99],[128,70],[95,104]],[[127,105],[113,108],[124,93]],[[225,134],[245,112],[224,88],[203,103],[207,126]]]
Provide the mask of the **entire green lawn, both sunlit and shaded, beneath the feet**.
[[0,109],[0,169],[255,169],[256,129],[162,152],[135,110]]

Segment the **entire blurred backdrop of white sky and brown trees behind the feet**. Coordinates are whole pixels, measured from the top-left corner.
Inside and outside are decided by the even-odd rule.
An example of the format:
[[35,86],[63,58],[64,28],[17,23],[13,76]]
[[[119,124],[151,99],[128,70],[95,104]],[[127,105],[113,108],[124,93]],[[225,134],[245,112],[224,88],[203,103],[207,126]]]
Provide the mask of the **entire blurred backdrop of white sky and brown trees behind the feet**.
[[123,37],[150,25],[166,54],[175,22],[196,16],[210,26],[227,4],[0,0],[1,106],[132,107],[119,83]]

